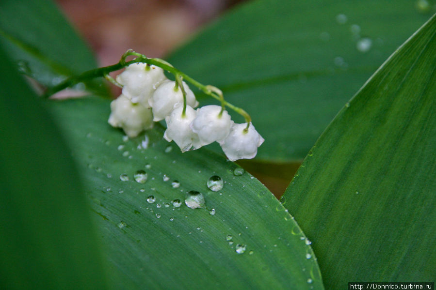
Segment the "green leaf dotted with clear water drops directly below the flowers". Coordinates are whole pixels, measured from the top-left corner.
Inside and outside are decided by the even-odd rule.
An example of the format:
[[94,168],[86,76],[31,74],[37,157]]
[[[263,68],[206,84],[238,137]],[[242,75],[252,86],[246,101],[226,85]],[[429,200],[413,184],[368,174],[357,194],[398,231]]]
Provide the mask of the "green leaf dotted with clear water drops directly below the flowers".
[[[204,148],[181,153],[159,125],[128,140],[107,123],[105,100],[50,103],[80,162],[115,289],[323,289],[301,229],[250,174],[235,176],[236,164]],[[207,187],[214,175],[218,192]],[[188,208],[189,191],[206,208]]]

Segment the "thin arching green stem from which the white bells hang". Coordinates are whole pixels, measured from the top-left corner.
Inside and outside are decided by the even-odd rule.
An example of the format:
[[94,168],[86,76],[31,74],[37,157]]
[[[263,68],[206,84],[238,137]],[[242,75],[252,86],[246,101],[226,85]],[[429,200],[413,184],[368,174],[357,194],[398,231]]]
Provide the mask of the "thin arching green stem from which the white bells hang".
[[[126,61],[126,59],[129,56],[134,56],[135,58],[131,61]],[[224,107],[228,107],[228,108],[232,109],[233,111],[235,111],[236,113],[242,115],[242,117],[244,117],[244,119],[245,119],[245,122],[247,122],[246,130],[248,130],[248,126],[250,125],[250,122],[251,122],[250,115],[247,112],[245,112],[242,108],[236,107],[236,106],[230,104],[229,102],[227,102],[223,97],[223,93],[218,88],[210,86],[210,85],[205,86],[205,85],[199,83],[198,81],[196,81],[192,77],[182,73],[177,68],[175,68],[174,66],[172,66],[171,64],[169,64],[168,62],[166,62],[164,60],[149,59],[145,55],[137,53],[137,52],[132,51],[132,50],[126,51],[126,53],[123,54],[123,56],[121,57],[120,61],[118,61],[118,63],[115,63],[113,65],[108,65],[105,67],[100,67],[100,68],[93,69],[93,70],[89,70],[89,71],[82,73],[79,76],[71,76],[71,77],[65,79],[62,83],[58,84],[57,86],[54,86],[52,88],[48,88],[48,90],[43,94],[43,97],[48,98],[49,96],[53,95],[56,92],[62,91],[68,87],[71,87],[77,83],[83,82],[83,81],[88,80],[88,79],[92,79],[95,77],[109,76],[109,73],[111,73],[113,71],[120,70],[122,68],[129,66],[132,63],[138,63],[138,62],[143,62],[143,63],[146,63],[148,65],[156,65],[156,66],[160,67],[161,69],[166,70],[166,71],[170,72],[171,74],[173,74],[174,76],[176,76],[176,81],[178,81],[178,79],[180,79],[179,86],[182,89],[183,96],[184,96],[183,114],[186,111],[186,92],[184,92],[184,88],[181,85],[181,79],[184,79],[185,81],[191,83],[192,85],[197,87],[199,90],[204,92],[206,95],[209,95],[212,98],[220,101],[221,106],[223,107],[223,110],[224,110]]]

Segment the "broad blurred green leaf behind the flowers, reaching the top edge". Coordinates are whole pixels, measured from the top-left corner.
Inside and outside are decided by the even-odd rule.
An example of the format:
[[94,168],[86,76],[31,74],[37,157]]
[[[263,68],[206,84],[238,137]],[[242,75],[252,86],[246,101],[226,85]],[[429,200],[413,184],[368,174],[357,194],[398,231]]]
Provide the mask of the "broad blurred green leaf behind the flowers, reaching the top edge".
[[168,61],[247,110],[265,138],[258,160],[301,160],[340,107],[427,19],[410,0],[253,1]]

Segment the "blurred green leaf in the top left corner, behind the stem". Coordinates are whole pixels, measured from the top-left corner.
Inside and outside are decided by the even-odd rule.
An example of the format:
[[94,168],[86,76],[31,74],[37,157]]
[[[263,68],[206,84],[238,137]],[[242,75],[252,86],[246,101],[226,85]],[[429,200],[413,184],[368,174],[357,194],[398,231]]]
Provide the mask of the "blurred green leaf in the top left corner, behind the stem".
[[[48,87],[97,66],[89,48],[50,0],[2,0],[0,46],[23,73]],[[101,80],[85,85],[107,94]]]

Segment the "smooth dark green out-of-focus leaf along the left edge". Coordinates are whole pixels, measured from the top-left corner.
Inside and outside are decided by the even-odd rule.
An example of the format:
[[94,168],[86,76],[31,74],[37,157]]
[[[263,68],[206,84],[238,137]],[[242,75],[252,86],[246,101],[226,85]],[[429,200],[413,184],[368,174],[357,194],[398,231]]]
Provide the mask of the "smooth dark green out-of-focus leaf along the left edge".
[[0,50],[0,288],[107,289],[66,144]]

